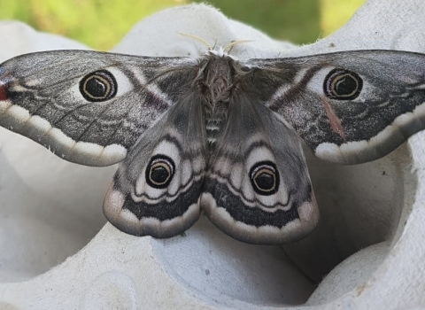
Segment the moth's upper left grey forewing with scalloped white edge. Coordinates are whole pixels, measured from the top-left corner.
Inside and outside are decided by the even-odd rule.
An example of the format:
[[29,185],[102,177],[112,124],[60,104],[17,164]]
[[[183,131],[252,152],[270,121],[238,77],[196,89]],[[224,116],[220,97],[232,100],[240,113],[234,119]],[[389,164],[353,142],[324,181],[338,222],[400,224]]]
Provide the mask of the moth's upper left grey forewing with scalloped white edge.
[[[142,58],[87,50],[12,58],[0,65],[0,124],[64,159],[91,166],[112,165],[124,159],[143,130],[190,84],[196,74],[192,65],[193,60],[187,58]],[[109,81],[102,74],[87,78],[104,71],[112,75]],[[102,87],[114,87],[115,93],[103,101],[88,101],[81,96],[82,79],[88,88],[106,81]]]

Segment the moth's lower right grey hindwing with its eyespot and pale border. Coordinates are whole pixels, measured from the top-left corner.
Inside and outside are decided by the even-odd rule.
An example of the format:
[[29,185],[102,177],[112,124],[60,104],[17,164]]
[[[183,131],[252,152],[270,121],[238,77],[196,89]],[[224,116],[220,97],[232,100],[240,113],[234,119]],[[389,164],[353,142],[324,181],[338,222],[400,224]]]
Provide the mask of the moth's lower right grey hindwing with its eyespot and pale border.
[[274,112],[240,96],[217,139],[201,206],[238,240],[285,244],[310,233],[319,211],[299,137]]

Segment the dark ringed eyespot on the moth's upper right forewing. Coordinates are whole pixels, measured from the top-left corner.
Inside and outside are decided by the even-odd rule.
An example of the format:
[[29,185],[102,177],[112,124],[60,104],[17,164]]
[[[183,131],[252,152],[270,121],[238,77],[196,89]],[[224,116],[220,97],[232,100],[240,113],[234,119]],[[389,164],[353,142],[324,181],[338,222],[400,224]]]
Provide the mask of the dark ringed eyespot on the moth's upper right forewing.
[[359,97],[363,81],[359,74],[344,69],[328,73],[323,84],[325,95],[337,100],[352,100]]

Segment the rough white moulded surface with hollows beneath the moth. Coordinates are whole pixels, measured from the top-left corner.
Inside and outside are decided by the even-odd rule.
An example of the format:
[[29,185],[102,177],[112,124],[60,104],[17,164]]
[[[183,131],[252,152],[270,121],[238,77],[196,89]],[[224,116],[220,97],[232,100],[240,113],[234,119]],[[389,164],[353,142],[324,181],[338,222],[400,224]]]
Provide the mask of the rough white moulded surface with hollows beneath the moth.
[[[370,0],[336,34],[294,47],[210,7],[189,5],[144,19],[113,50],[189,57],[205,52],[180,32],[217,45],[255,40],[232,50],[239,58],[425,52],[423,20],[422,0]],[[0,42],[0,61],[35,50],[84,48],[15,22],[0,23]],[[307,298],[306,309],[425,306],[424,136],[354,167],[309,156],[321,224],[312,236],[281,248],[239,243],[204,218],[186,236],[126,235],[104,225],[102,214],[114,167],[67,163],[2,129],[0,308],[266,309],[294,308]],[[312,279],[322,277],[316,288]]]

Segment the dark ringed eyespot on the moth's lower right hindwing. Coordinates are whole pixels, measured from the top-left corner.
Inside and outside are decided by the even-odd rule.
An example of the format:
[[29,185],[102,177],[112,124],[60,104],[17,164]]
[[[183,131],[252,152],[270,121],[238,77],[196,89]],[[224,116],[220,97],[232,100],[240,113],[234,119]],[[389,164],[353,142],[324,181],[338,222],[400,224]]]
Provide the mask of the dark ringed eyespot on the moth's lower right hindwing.
[[259,195],[273,195],[279,190],[279,172],[272,161],[261,161],[252,166],[250,179],[253,190]]

